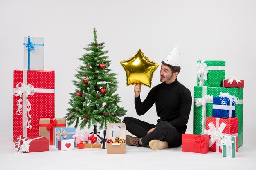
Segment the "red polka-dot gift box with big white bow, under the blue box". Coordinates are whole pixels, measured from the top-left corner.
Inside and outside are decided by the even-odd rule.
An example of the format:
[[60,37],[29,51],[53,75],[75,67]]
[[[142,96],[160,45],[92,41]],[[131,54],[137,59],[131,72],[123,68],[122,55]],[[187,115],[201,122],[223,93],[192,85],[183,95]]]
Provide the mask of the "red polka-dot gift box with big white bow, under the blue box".
[[211,135],[209,151],[222,153],[221,139],[225,134],[236,136],[236,152],[238,152],[238,118],[206,117],[206,130],[204,133]]

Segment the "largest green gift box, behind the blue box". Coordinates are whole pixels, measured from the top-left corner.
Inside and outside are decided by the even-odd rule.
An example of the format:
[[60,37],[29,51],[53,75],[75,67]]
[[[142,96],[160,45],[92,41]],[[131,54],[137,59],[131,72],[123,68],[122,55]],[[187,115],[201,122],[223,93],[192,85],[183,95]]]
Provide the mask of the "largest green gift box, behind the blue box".
[[[235,117],[238,118],[238,147],[240,147],[243,145],[243,88],[194,86],[194,134],[201,135],[206,127],[206,117],[212,116],[213,104],[212,101],[208,102],[209,96],[219,97],[220,92],[238,98]],[[200,103],[204,103],[204,106]]]

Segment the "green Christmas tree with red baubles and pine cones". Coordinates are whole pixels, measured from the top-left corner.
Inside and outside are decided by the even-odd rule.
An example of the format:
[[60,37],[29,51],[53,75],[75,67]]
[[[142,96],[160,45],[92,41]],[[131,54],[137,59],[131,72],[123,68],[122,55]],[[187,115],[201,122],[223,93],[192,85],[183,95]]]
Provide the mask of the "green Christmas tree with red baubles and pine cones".
[[[125,115],[126,110],[118,106],[121,102],[117,91],[117,74],[110,73],[110,61],[107,50],[104,49],[104,42],[97,42],[96,29],[93,29],[94,40],[84,49],[88,51],[79,60],[84,65],[80,65],[77,80],[72,81],[76,86],[74,93],[70,93],[70,108],[65,118],[67,125],[75,122],[75,128],[85,126],[89,129],[94,126],[94,133],[99,129],[107,128],[108,122],[121,122],[119,117]],[[80,122],[80,124],[79,124]]]

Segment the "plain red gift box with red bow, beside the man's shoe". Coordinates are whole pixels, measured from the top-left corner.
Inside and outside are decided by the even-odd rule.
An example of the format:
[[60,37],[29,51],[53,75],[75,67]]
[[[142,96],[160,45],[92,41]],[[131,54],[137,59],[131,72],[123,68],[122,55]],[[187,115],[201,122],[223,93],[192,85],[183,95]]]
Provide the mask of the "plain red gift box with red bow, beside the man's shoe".
[[182,134],[181,151],[208,153],[209,135]]

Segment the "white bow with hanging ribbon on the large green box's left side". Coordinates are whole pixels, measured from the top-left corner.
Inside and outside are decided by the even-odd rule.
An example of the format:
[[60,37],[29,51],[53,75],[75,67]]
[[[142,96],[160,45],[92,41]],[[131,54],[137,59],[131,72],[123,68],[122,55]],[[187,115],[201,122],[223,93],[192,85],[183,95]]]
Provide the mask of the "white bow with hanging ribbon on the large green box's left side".
[[206,95],[203,98],[198,99],[195,101],[195,106],[199,107],[202,106],[202,134],[204,133],[204,130],[206,129],[206,104],[213,101],[213,95]]

